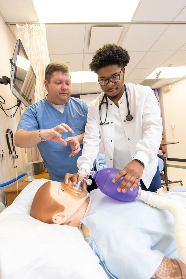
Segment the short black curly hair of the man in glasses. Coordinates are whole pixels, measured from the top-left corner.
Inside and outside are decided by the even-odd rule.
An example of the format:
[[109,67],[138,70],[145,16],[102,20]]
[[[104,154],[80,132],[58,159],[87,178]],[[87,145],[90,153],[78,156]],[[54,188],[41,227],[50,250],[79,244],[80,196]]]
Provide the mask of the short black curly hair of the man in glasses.
[[98,70],[110,65],[125,67],[130,60],[128,52],[116,44],[106,44],[98,49],[89,64],[91,71],[98,73]]

